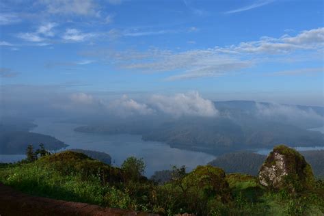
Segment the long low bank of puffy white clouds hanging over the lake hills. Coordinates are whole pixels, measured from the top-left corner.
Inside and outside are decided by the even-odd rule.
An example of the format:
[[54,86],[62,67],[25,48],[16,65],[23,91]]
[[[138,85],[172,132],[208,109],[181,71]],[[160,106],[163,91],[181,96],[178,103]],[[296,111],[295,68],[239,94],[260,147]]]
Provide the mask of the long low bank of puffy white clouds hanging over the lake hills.
[[[141,103],[124,95],[119,99],[104,103],[90,94],[75,93],[70,95],[71,103],[64,107],[68,109],[102,110],[113,116],[147,116],[163,113],[173,117],[201,116],[215,117],[219,112],[211,100],[204,99],[198,92],[164,96],[154,94],[146,102]],[[78,108],[77,108],[78,107]]]

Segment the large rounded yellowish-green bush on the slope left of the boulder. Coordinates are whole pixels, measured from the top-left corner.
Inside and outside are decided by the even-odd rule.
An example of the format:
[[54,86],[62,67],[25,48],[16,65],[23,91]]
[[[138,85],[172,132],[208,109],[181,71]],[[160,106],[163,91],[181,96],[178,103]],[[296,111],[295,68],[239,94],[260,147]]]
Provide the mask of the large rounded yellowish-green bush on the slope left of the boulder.
[[211,165],[198,166],[189,174],[185,167],[176,168],[172,181],[158,188],[157,205],[164,213],[210,215],[230,201],[225,172]]

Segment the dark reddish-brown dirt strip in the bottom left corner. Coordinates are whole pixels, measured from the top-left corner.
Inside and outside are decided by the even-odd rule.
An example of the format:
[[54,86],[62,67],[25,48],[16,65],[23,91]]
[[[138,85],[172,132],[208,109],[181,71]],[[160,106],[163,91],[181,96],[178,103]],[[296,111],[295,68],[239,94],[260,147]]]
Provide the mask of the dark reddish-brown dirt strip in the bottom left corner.
[[12,215],[141,215],[153,216],[148,213],[137,213],[117,208],[102,208],[100,206],[81,202],[66,202],[41,198],[18,192],[0,183],[0,216]]

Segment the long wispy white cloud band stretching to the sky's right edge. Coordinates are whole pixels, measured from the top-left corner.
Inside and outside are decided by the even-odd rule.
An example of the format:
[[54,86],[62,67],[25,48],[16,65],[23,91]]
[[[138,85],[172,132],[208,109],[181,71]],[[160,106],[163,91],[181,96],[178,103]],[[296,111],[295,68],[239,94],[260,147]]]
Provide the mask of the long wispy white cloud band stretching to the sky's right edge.
[[[296,59],[297,51],[303,52],[303,61],[314,59],[324,49],[324,28],[301,31],[296,36],[280,38],[262,37],[260,40],[241,42],[237,45],[216,46],[209,49],[170,51],[151,48],[146,51],[99,50],[84,55],[99,56],[108,64],[137,72],[172,72],[165,80],[219,77],[240,73],[260,62],[280,62]],[[119,31],[114,31],[120,36]],[[138,35],[143,34],[143,32]],[[135,35],[134,35],[135,36]],[[312,52],[312,53],[311,53]]]

